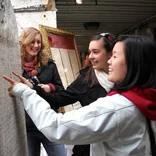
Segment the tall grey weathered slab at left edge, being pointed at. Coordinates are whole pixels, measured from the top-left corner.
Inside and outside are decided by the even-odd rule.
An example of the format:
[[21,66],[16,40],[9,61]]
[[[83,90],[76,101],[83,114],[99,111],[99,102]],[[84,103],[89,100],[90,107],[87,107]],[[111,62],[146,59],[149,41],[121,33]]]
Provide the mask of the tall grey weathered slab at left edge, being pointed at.
[[9,0],[0,0],[0,156],[27,156],[25,114],[20,101],[8,96],[2,75],[20,73],[17,24]]

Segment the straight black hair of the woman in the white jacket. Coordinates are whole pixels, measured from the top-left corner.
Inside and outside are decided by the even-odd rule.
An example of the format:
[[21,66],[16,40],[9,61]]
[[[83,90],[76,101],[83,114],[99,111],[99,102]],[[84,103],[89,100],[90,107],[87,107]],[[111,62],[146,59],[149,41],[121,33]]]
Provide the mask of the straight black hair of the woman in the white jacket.
[[135,86],[156,88],[156,42],[136,35],[119,36],[117,42],[124,43],[127,74],[114,89],[125,91]]

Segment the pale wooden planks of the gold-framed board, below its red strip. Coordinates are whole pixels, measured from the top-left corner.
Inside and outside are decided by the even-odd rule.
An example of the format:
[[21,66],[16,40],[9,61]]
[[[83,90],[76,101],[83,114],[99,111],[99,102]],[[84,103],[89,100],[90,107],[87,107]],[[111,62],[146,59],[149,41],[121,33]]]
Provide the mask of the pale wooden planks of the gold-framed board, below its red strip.
[[[79,75],[79,65],[78,58],[76,56],[75,50],[67,50],[67,49],[58,49],[51,48],[51,54],[53,56],[53,60],[55,61],[60,77],[62,79],[62,83],[66,88],[70,85]],[[69,104],[64,107],[59,108],[59,112],[68,112],[73,109],[78,109],[81,107],[79,102],[74,104]]]

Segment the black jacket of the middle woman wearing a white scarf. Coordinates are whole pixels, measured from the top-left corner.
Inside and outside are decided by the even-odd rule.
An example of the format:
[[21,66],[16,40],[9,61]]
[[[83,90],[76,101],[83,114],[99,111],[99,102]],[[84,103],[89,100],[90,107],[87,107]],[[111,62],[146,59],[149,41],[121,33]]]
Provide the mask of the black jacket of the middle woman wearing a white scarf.
[[80,75],[74,80],[66,90],[61,90],[56,93],[44,94],[40,87],[34,86],[38,95],[43,97],[51,108],[56,109],[79,101],[82,106],[86,106],[99,97],[106,96],[106,90],[101,86],[87,87],[84,83],[84,77],[90,67],[86,67],[80,71]]

